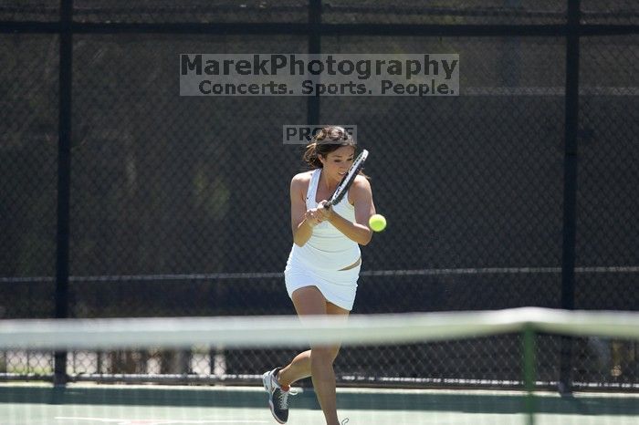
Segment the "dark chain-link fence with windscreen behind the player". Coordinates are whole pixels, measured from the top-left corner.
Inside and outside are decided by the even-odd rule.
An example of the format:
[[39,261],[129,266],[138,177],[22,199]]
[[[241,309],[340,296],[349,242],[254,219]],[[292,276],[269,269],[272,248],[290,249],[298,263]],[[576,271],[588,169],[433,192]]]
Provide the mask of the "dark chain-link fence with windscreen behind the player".
[[[304,166],[281,134],[309,123],[311,109],[310,124],[357,126],[389,220],[362,248],[353,314],[563,307],[565,87],[577,72],[573,306],[637,309],[634,2],[581,1],[581,25],[624,35],[580,36],[579,69],[566,68],[566,1],[324,2],[327,26],[313,33],[304,26],[317,3],[73,2],[68,316],[293,314],[281,272],[288,183]],[[13,28],[0,34],[2,318],[56,316],[60,39],[47,23],[59,13],[0,1]],[[437,34],[447,28],[459,32]],[[309,37],[323,53],[457,53],[462,92],[179,96],[182,53],[306,52]],[[352,347],[336,371],[344,384],[520,386],[520,347],[518,336]],[[241,381],[293,354],[78,352],[67,370]],[[626,341],[542,336],[539,382],[555,385],[567,368],[578,387],[637,388],[637,356]],[[5,378],[50,378],[53,368],[50,353],[0,354]]]

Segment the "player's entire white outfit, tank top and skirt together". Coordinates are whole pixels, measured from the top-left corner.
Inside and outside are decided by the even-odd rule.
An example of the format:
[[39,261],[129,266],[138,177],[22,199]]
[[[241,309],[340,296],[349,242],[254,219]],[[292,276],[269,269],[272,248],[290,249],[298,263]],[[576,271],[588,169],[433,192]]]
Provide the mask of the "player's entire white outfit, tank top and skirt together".
[[[309,190],[306,192],[306,207],[317,208],[316,195],[321,169],[313,171]],[[348,202],[348,193],[341,202],[333,205],[333,211],[341,217],[355,222],[355,208]],[[288,255],[284,278],[288,296],[304,286],[317,286],[324,297],[336,306],[352,309],[357,291],[357,279],[361,264],[349,270],[340,271],[357,262],[360,245],[351,241],[335,226],[328,222],[313,228],[309,241],[304,246],[293,244]]]

